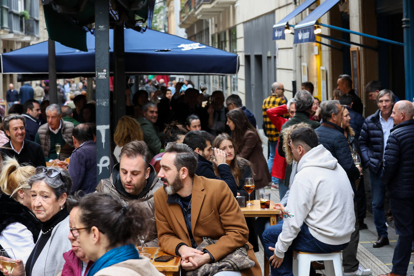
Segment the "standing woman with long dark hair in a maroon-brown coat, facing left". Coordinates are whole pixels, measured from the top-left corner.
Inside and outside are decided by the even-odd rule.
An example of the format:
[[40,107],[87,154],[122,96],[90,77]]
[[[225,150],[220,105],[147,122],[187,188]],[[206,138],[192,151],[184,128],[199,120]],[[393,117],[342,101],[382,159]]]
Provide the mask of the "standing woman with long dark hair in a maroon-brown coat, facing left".
[[226,116],[236,154],[253,164],[256,189],[267,186],[271,178],[265,156],[263,156],[259,133],[240,108],[229,111]]

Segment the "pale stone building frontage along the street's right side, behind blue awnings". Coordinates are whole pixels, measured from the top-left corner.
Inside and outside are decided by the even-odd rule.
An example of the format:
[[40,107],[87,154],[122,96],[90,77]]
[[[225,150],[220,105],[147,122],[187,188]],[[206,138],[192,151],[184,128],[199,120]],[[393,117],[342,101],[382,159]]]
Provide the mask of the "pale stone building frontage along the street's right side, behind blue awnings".
[[[298,24],[325,1],[332,2],[315,1],[289,20],[289,25]],[[211,87],[210,91],[219,89],[225,96],[239,94],[256,118],[262,118],[262,100],[270,94],[270,86],[275,81],[284,84],[288,99],[301,89],[302,82],[309,81],[315,87],[313,95],[326,100],[332,98],[339,74],[354,73],[354,88],[364,103],[365,115],[376,110],[364,93],[365,85],[371,80],[380,80],[385,88],[405,98],[404,47],[401,45],[327,27],[322,27],[322,36],[316,36],[313,43],[294,44],[293,27],[292,34],[286,34],[285,39],[273,40],[272,26],[305,0],[176,2],[181,5],[179,26],[186,29],[188,38],[240,56],[237,75],[190,79],[196,83],[202,78]],[[334,2],[332,8],[321,14],[320,23],[404,42],[403,0]],[[342,43],[332,38],[339,38]],[[357,52],[352,63],[351,50]]]

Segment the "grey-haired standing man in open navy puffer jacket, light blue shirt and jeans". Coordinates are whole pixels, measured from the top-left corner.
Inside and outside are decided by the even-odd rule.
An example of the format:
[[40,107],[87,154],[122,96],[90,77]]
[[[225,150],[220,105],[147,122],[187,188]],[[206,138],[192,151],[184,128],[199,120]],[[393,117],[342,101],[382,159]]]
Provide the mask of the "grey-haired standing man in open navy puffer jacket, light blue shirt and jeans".
[[381,171],[390,131],[394,127],[391,118],[392,108],[395,103],[395,95],[389,89],[383,89],[378,93],[378,110],[368,116],[359,135],[359,146],[361,147],[361,157],[363,163],[369,168],[369,178],[371,180],[372,214],[377,230],[378,239],[373,243],[373,247],[383,247],[389,245],[387,225],[385,224],[385,185],[381,181]]

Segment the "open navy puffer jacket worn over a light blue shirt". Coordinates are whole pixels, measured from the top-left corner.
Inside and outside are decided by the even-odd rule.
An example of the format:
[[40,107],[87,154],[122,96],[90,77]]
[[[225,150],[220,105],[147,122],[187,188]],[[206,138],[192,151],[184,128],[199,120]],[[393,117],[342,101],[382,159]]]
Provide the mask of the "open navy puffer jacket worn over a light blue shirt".
[[384,133],[380,123],[379,109],[365,119],[358,141],[365,166],[374,173],[378,173],[384,152]]

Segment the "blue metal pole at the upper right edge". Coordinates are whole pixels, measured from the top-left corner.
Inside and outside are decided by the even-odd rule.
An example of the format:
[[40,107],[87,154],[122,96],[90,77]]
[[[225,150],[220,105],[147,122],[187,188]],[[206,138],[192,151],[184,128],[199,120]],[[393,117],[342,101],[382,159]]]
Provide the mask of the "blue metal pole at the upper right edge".
[[402,1],[404,29],[405,99],[414,97],[414,4],[412,0]]

